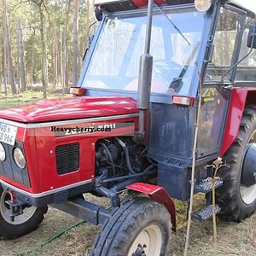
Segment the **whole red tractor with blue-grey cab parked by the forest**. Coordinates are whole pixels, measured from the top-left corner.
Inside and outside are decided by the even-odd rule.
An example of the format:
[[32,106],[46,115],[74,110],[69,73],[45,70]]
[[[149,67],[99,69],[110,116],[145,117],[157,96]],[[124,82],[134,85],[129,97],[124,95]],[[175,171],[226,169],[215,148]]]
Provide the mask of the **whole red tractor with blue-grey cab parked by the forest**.
[[[75,96],[0,112],[0,236],[35,230],[50,206],[102,224],[92,255],[166,255],[172,198],[189,201],[195,129],[195,193],[206,194],[206,208],[193,217],[212,216],[212,186],[220,218],[251,215],[253,11],[224,0],[99,0],[95,14]],[[205,166],[218,157],[229,166],[212,184]],[[122,201],[124,190],[139,193]]]

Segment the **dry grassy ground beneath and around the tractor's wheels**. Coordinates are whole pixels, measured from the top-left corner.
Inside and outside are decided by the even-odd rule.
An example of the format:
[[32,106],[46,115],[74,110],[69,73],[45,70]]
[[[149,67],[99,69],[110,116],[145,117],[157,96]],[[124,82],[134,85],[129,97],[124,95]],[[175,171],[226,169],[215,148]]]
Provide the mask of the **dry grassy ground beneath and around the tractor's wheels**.
[[[170,256],[183,255],[187,226],[185,212],[186,205],[177,202],[177,234],[172,234]],[[96,234],[101,229],[92,224],[79,223],[78,218],[49,208],[38,230],[15,241],[0,241],[0,255],[90,255]],[[79,225],[46,243],[73,224]],[[193,222],[189,255],[214,255],[211,220],[204,224]],[[226,223],[218,219],[216,255],[256,256],[256,214],[240,224]]]

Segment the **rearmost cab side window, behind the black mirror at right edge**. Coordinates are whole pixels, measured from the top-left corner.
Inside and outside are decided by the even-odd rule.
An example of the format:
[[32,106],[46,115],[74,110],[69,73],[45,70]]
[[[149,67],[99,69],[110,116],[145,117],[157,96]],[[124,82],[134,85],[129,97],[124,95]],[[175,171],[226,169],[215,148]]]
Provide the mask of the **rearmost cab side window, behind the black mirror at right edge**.
[[[242,36],[241,50],[239,59],[241,60],[249,52],[247,47],[247,37],[249,32],[249,26],[254,24],[255,20],[251,17],[247,17],[245,30]],[[253,52],[247,56],[247,58],[237,66],[236,69],[236,81],[256,81],[256,49],[253,49]]]

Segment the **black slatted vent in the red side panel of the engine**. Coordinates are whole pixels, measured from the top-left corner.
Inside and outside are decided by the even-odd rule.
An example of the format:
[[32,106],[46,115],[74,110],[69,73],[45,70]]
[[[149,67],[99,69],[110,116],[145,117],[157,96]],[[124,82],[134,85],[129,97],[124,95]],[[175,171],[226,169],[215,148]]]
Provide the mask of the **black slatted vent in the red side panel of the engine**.
[[79,143],[55,148],[56,167],[59,175],[79,170]]

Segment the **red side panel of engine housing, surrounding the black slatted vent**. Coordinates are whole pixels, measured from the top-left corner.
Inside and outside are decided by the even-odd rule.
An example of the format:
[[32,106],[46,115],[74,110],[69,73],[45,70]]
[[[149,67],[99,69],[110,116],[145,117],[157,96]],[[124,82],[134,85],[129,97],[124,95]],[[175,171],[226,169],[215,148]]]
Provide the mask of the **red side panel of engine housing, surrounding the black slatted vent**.
[[[16,188],[26,190],[32,194],[39,194],[52,189],[61,189],[64,186],[94,178],[96,142],[105,137],[131,135],[137,129],[137,118],[98,121],[94,125],[105,125],[109,122],[115,124],[134,122],[134,125],[113,129],[112,131],[96,131],[93,133],[72,134],[62,137],[55,137],[55,133],[51,131],[50,127],[29,129],[19,127],[16,139],[24,144],[26,165],[32,187],[26,188],[7,177],[0,176],[0,178],[14,185]],[[90,126],[92,124],[81,123],[76,126],[84,127],[88,125]],[[65,128],[68,126],[70,127],[72,125],[63,125],[61,127]],[[79,170],[58,175],[56,171],[55,148],[58,145],[67,143],[79,143]]]

